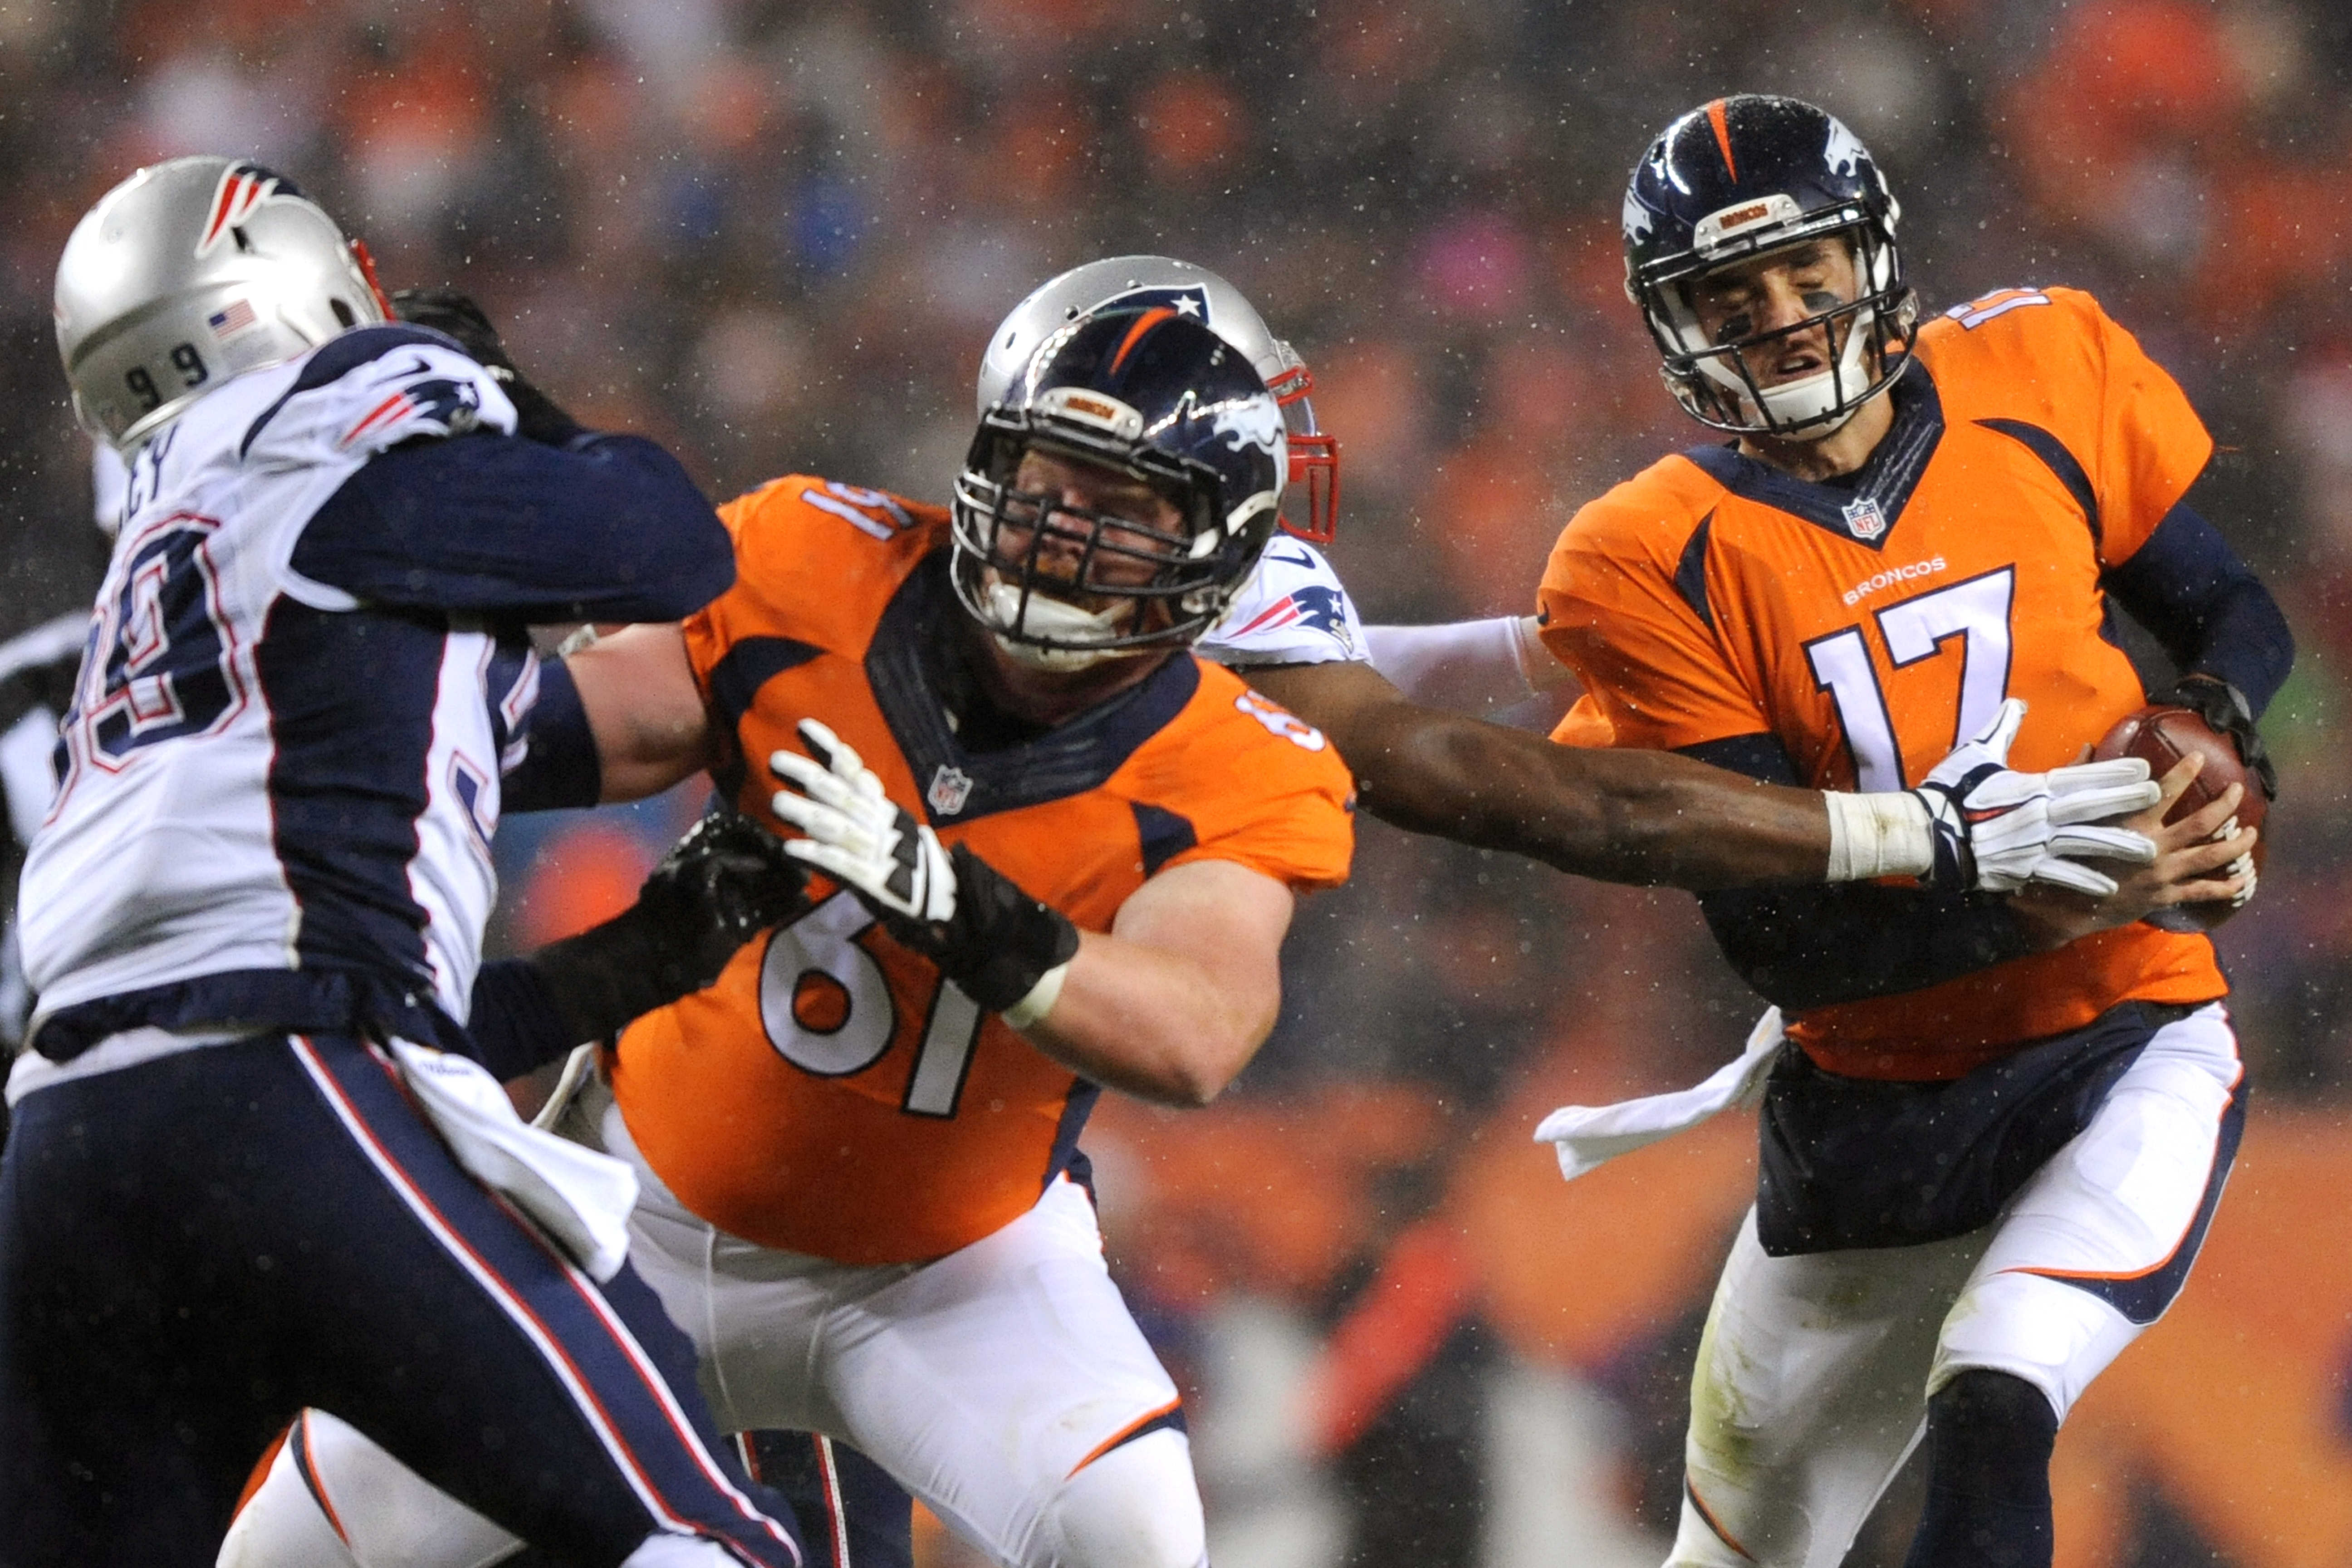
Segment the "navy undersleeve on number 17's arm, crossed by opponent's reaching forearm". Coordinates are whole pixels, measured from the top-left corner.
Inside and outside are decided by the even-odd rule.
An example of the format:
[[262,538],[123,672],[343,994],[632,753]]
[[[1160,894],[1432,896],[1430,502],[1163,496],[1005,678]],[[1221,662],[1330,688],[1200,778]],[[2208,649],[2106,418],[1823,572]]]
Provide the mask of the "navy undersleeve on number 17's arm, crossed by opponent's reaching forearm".
[[[1682,755],[1799,783],[1776,736],[1731,736]],[[1700,893],[1698,907],[1740,980],[1785,1013],[1926,990],[2032,952],[2009,903],[1990,893],[1832,882],[1722,889]]]

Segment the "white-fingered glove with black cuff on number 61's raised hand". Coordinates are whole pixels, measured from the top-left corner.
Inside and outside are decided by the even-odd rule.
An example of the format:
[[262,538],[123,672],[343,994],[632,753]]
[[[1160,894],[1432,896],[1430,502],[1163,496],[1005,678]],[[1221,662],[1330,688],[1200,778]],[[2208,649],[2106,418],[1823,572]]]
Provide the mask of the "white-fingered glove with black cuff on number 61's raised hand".
[[969,846],[943,846],[830,729],[802,719],[800,738],[816,762],[797,752],[767,759],[786,785],[769,806],[809,835],[786,849],[847,886],[898,945],[938,964],[990,1013],[1025,1027],[1035,1016],[1021,1018],[1023,1001],[1049,1009],[1058,983],[1033,992],[1077,957],[1077,926]]

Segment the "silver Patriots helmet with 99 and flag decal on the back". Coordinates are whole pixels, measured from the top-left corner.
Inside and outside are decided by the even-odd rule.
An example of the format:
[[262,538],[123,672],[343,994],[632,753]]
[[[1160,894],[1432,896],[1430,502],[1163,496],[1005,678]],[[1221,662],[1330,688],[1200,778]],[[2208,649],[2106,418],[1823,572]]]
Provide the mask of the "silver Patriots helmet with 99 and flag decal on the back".
[[118,451],[230,376],[386,317],[367,252],[294,181],[240,158],[139,169],[56,263],[73,414]]

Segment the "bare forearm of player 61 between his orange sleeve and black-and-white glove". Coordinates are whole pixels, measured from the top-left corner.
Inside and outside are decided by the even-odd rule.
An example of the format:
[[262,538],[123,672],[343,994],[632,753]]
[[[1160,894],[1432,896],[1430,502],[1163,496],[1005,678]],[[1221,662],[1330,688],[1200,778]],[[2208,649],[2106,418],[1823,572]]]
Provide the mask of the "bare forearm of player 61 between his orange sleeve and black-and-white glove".
[[1054,1009],[1025,1034],[1103,1088],[1200,1107],[1249,1065],[1279,1006],[1272,954],[1263,976],[1235,987],[1178,954],[1087,931]]

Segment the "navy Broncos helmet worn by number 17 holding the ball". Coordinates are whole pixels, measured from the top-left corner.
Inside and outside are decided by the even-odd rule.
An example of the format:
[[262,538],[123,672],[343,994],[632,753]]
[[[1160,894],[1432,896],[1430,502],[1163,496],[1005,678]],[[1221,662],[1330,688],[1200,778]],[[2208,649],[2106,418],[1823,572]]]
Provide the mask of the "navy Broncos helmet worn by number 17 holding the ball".
[[[1738,94],[1665,127],[1625,188],[1625,292],[1642,306],[1665,355],[1665,386],[1691,418],[1743,435],[1818,437],[1884,393],[1919,320],[1896,252],[1900,212],[1867,148],[1811,103]],[[1795,327],[1705,339],[1686,289],[1693,277],[1818,237],[1851,247],[1858,299]],[[1757,386],[1740,350],[1823,324],[1828,369]]]

